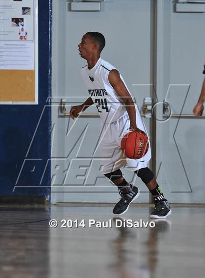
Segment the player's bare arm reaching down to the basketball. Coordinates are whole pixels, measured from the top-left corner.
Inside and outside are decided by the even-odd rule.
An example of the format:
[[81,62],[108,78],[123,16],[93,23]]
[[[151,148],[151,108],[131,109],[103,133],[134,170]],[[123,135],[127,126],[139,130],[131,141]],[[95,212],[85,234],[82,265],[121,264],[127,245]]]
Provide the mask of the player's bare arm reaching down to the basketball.
[[120,78],[120,73],[116,69],[113,69],[110,71],[108,79],[109,83],[113,86],[114,90],[125,104],[130,119],[130,129],[137,130],[145,134],[143,130],[137,128],[135,104],[126,86],[124,85],[123,80]]

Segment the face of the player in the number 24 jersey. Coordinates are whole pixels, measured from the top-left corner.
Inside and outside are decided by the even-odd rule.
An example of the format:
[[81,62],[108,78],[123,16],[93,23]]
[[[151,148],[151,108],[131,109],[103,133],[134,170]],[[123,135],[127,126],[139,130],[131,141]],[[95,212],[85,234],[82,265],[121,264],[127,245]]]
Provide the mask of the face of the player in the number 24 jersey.
[[81,43],[79,43],[78,47],[79,47],[79,54],[81,55],[82,58],[84,59],[89,59],[92,54],[93,54],[93,50],[94,50],[94,42],[93,40],[90,38],[89,35],[84,35],[82,37],[82,41]]

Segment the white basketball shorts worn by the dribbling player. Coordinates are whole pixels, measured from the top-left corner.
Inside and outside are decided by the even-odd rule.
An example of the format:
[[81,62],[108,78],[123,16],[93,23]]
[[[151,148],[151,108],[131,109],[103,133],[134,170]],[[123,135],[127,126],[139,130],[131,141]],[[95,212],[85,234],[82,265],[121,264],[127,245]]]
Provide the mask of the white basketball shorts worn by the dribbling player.
[[[143,130],[146,134],[146,128],[141,118],[138,107],[136,107],[136,122],[137,127]],[[122,137],[129,132],[130,121],[128,114],[121,117],[115,122],[104,124],[101,123],[101,134],[98,150],[101,157],[101,169],[103,174],[107,174],[120,169],[127,165],[131,171],[136,171],[141,168],[147,167],[151,158],[151,148],[145,156],[140,159],[130,159],[123,155],[120,148]],[[148,134],[147,134],[148,136]]]

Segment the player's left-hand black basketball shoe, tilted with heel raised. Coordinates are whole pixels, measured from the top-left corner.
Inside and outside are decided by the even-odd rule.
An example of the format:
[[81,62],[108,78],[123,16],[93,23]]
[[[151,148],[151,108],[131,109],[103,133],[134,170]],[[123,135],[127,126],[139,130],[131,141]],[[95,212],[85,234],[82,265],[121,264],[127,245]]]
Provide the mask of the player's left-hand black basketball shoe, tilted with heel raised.
[[120,190],[119,193],[121,195],[121,199],[120,201],[115,205],[114,209],[113,209],[113,214],[117,214],[117,215],[122,215],[124,213],[126,213],[126,211],[129,208],[129,205],[138,198],[138,196],[140,195],[140,191],[137,187],[130,185],[131,186],[131,190],[129,193],[127,194],[123,194]]

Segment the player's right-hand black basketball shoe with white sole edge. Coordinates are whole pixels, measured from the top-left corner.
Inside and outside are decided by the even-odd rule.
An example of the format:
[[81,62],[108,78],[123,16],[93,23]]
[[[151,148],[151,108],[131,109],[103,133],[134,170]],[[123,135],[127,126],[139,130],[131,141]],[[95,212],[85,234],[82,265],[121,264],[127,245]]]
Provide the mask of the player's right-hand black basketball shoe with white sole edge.
[[171,208],[166,199],[155,201],[154,211],[149,215],[150,218],[164,219],[171,214]]

